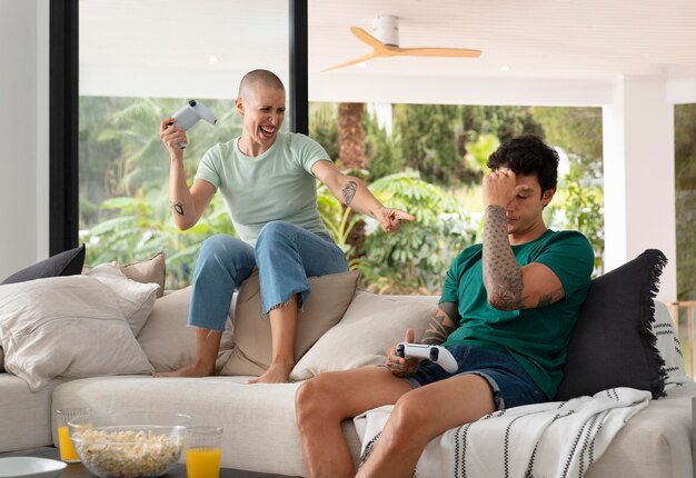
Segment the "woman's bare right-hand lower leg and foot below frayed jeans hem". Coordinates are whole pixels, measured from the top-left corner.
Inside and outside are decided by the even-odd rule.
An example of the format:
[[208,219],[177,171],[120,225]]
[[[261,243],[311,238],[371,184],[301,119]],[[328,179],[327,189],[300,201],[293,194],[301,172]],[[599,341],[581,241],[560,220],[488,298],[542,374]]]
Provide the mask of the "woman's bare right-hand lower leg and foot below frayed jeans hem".
[[271,336],[271,362],[268,370],[247,384],[281,384],[288,381],[295,367],[295,337],[297,336],[297,295],[268,312]]

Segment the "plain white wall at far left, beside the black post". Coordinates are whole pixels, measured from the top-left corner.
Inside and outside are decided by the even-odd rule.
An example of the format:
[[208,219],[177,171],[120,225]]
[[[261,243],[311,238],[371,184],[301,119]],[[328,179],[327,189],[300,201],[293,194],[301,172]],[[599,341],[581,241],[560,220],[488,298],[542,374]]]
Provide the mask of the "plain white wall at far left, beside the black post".
[[0,0],[0,44],[2,280],[48,257],[48,0]]

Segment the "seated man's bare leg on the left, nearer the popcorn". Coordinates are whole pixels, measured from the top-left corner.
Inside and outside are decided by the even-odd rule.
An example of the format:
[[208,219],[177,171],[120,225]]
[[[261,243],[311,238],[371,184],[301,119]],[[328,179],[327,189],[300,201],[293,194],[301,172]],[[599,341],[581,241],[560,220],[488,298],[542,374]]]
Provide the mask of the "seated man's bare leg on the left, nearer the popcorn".
[[308,476],[355,476],[341,421],[395,404],[409,390],[408,384],[382,367],[321,374],[302,384],[295,402]]

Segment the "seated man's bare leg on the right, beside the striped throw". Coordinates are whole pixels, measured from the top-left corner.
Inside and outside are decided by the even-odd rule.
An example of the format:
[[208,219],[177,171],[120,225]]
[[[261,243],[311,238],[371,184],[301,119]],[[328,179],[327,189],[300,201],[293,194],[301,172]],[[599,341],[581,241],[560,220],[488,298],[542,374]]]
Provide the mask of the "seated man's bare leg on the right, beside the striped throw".
[[410,477],[432,438],[495,410],[490,386],[478,375],[459,375],[416,388],[396,402],[356,477]]

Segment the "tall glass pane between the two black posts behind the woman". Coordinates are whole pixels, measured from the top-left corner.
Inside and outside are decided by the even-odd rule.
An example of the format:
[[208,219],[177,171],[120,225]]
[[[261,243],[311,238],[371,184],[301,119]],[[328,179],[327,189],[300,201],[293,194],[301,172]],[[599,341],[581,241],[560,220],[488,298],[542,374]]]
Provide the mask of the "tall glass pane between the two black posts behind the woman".
[[[199,121],[188,131],[185,168],[191,183],[206,150],[240,135],[232,99],[247,71],[269,69],[288,88],[288,2],[81,0],[79,6],[86,263],[128,263],[163,250],[167,288],[185,287],[201,241],[235,231],[220,195],[196,227],[176,229],[159,122],[190,99],[216,116],[216,126]],[[287,107],[289,113],[292,104]]]

